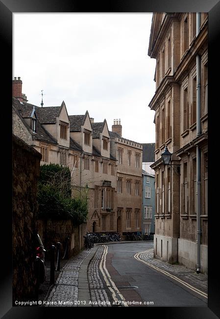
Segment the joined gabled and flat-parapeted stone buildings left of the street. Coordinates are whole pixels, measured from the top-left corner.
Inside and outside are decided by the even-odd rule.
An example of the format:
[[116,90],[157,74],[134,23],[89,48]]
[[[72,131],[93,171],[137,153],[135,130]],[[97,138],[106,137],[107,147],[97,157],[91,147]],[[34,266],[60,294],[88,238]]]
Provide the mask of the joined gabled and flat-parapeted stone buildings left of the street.
[[27,103],[20,78],[13,80],[13,96],[13,133],[42,154],[41,164],[70,168],[73,195],[88,201],[86,231],[141,230],[142,145],[122,138],[121,125],[109,132],[106,120],[96,123],[88,111],[68,115],[64,102],[48,107]]

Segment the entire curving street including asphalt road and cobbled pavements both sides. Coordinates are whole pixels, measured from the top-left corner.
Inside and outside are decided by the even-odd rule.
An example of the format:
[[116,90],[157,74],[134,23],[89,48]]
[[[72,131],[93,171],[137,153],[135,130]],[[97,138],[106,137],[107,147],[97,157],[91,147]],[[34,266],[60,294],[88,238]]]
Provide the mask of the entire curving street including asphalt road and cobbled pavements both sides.
[[42,306],[206,307],[207,276],[153,259],[153,242],[96,244],[61,269]]

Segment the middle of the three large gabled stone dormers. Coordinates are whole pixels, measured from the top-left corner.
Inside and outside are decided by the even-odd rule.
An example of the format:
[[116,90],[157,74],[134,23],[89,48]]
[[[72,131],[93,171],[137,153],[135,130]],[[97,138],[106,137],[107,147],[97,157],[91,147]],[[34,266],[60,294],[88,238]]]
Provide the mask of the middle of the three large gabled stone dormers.
[[83,152],[92,154],[92,125],[89,112],[86,111],[85,115],[70,115],[69,118],[70,136],[82,147]]

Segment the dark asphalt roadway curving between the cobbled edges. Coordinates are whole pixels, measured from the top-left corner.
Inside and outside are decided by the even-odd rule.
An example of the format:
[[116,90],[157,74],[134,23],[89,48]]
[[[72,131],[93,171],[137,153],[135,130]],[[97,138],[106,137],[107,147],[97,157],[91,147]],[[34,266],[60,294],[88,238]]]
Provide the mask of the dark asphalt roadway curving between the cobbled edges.
[[[93,266],[93,272],[96,265],[99,279],[96,284],[94,277],[88,273],[94,301],[100,297],[96,293],[101,278],[102,296],[107,294],[108,299],[104,297],[99,300],[109,300],[111,306],[207,306],[204,292],[184,279],[169,275],[166,270],[161,272],[159,267],[147,265],[143,259],[146,253],[138,253],[150,250],[152,245],[152,242],[134,242],[100,246],[94,256],[96,264],[92,261],[90,265]],[[192,271],[185,272],[184,278],[187,275],[190,278]]]

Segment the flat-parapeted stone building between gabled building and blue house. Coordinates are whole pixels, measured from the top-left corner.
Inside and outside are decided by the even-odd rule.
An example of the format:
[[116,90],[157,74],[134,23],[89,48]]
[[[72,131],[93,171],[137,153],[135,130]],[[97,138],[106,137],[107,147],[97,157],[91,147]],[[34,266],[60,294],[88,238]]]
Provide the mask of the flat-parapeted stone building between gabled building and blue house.
[[142,150],[141,143],[122,137],[121,121],[110,132],[111,153],[117,158],[117,231],[142,230]]

